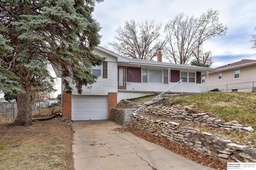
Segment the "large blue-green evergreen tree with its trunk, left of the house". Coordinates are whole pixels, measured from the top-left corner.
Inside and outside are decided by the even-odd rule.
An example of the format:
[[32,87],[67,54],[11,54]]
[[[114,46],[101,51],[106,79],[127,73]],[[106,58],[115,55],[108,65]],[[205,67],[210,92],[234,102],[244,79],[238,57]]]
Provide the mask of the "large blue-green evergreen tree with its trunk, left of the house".
[[59,69],[66,90],[68,81],[95,82],[90,67],[103,60],[91,48],[98,45],[99,24],[92,18],[94,3],[102,0],[1,0],[0,91],[16,94],[18,115],[14,125],[32,125],[31,87],[53,89],[48,65]]

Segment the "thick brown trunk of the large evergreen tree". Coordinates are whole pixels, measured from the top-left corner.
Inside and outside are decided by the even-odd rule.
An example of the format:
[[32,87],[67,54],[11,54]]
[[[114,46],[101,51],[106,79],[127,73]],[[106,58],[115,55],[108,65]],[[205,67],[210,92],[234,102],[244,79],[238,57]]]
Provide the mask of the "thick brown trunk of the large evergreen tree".
[[31,109],[31,85],[30,82],[23,81],[22,89],[25,93],[17,95],[18,115],[13,123],[15,126],[32,125],[32,109]]

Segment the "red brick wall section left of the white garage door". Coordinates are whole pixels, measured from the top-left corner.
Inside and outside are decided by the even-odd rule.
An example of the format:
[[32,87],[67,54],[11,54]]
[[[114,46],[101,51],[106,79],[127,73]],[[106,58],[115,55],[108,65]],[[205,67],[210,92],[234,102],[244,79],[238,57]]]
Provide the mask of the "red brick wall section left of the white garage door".
[[62,117],[68,117],[71,120],[72,95],[62,92]]

